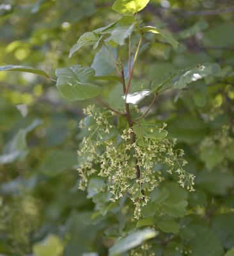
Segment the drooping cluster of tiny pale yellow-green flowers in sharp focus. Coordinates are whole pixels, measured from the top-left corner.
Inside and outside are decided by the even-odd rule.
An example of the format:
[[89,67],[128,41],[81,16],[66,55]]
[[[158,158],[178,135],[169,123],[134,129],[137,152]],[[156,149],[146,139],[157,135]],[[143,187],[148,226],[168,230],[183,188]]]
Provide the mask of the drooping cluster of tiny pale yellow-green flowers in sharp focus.
[[[82,141],[78,150],[81,176],[79,188],[85,189],[93,173],[106,180],[107,188],[116,202],[127,194],[135,205],[134,217],[141,216],[141,207],[149,201],[149,194],[164,180],[163,170],[178,175],[178,182],[184,188],[193,191],[194,175],[185,172],[187,163],[183,150],[175,149],[176,140],[165,136],[160,139],[152,136],[164,130],[150,125],[150,136],[134,133],[134,127],[121,130],[114,125],[113,113],[100,111],[94,106],[88,107],[84,113],[91,120],[84,119],[81,127],[88,126],[88,136]],[[132,141],[132,134],[136,140]]]

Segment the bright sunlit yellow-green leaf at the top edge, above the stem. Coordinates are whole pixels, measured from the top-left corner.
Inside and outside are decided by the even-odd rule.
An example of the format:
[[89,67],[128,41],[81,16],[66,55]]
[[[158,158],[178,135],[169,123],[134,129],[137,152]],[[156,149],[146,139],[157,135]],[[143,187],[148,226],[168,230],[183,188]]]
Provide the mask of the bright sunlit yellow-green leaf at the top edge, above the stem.
[[121,14],[134,14],[144,9],[150,0],[117,0],[112,8]]

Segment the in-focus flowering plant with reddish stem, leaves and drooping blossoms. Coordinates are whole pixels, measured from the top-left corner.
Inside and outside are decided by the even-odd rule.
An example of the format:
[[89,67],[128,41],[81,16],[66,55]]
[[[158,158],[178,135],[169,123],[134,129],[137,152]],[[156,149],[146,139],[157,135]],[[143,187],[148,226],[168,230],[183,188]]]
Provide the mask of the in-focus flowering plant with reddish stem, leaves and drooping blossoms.
[[[58,68],[56,80],[36,68],[13,65],[0,68],[40,74],[56,81],[66,99],[91,102],[84,109],[86,117],[79,125],[83,135],[78,150],[79,188],[87,189],[88,198],[95,204],[93,223],[108,218],[118,220],[118,227],[106,227],[104,231],[106,236],[121,237],[110,248],[109,255],[125,252],[157,255],[159,241],[168,243],[171,239],[183,241],[182,245],[174,246],[180,252],[175,255],[192,253],[186,237],[190,231],[177,234],[180,226],[186,224],[179,218],[187,212],[187,190],[194,191],[195,176],[187,170],[183,149],[176,147],[176,138],[169,136],[167,125],[148,118],[148,113],[166,90],[183,90],[192,81],[214,76],[220,67],[198,65],[168,73],[157,81],[147,77],[141,81],[135,68],[150,44],[149,34],[155,34],[174,49],[179,47],[168,31],[146,26],[137,15],[148,3],[149,0],[117,0],[113,10],[122,15],[120,19],[80,36],[69,58],[74,58],[82,47],[93,47],[98,52],[91,67],[77,64]],[[109,84],[117,88],[114,101],[105,95]],[[152,100],[142,111],[136,99],[144,97]],[[209,147],[207,141],[210,138],[201,143],[199,150]],[[207,168],[212,166],[207,163]],[[169,235],[164,236],[165,233]],[[155,236],[160,239],[152,239]],[[152,240],[145,243],[148,239]]]

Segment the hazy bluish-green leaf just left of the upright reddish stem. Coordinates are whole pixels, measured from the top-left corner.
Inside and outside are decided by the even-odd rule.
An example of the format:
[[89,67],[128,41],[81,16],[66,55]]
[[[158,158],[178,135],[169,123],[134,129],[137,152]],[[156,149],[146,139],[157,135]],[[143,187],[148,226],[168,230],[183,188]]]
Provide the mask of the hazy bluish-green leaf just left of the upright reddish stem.
[[[112,54],[112,56],[111,56]],[[102,48],[95,54],[95,58],[91,65],[91,68],[95,70],[95,76],[107,76],[114,72],[115,65],[114,60],[116,60],[117,52],[116,49],[111,47],[102,46]]]

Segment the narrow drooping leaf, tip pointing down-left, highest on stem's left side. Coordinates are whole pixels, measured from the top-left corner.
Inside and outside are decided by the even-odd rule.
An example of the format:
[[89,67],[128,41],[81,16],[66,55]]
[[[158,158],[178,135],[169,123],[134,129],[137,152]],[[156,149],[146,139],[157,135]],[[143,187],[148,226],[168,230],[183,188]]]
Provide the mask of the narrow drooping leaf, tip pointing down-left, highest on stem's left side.
[[78,39],[77,43],[72,46],[72,49],[70,49],[68,58],[71,58],[72,54],[74,54],[74,52],[81,49],[81,47],[83,47],[84,45],[86,45],[86,46],[94,45],[96,42],[98,42],[98,40],[99,40],[99,37],[97,35],[95,35],[95,33],[93,33],[93,32],[84,33]]

